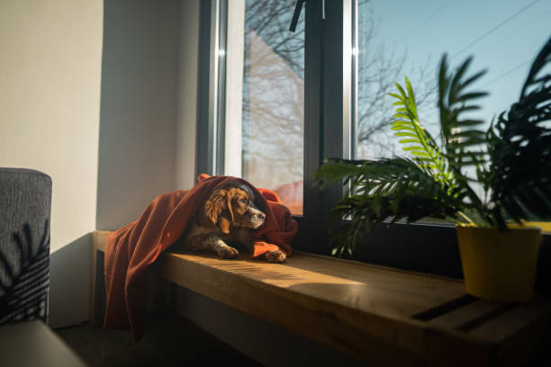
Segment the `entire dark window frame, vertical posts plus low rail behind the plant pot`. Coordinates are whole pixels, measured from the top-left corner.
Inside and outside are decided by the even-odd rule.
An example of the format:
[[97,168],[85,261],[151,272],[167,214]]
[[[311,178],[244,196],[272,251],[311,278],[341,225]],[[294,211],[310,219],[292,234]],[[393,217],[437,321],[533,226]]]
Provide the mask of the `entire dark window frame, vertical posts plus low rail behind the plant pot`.
[[[227,2],[201,2],[196,174],[223,175],[223,126],[219,125],[224,124],[224,117],[219,114],[219,125],[212,122],[212,103],[224,105],[225,100],[212,100],[212,88],[222,93],[225,76],[223,73],[213,76],[212,65],[223,63],[219,70],[225,72],[225,58],[213,55],[212,42],[216,42],[213,32],[218,31],[219,40],[223,39],[221,45],[225,46],[227,22],[222,21],[220,27],[213,27],[212,22],[227,17]],[[344,190],[341,184],[332,184],[321,191],[314,184],[313,176],[324,159],[350,158],[355,152],[357,56],[346,48],[357,44],[357,0],[306,0],[301,16],[305,16],[304,192],[303,215],[294,216],[299,222],[294,248],[330,255],[326,213],[343,196]],[[212,83],[212,78],[217,84]],[[218,167],[212,166],[214,140],[219,144],[215,150],[217,161],[221,162]],[[456,229],[452,224],[383,224],[364,234],[352,259],[463,278]],[[544,234],[537,273],[540,289],[551,290],[551,268],[544,265],[550,263],[551,235]]]

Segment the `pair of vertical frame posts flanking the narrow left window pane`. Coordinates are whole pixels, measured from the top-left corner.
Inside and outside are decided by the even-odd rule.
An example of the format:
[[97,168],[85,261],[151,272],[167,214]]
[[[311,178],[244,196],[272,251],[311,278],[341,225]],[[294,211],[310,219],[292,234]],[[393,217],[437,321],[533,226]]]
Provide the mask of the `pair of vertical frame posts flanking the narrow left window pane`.
[[[319,230],[324,227],[324,213],[344,191],[339,183],[321,191],[313,177],[325,159],[350,158],[354,148],[356,119],[350,97],[356,90],[352,70],[357,59],[351,52],[356,6],[355,0],[308,1],[301,14],[305,17],[304,191],[303,215],[294,218],[301,228],[296,242],[303,245],[298,248],[319,254],[328,252],[328,234]],[[224,175],[227,16],[228,0],[201,2],[195,176]]]

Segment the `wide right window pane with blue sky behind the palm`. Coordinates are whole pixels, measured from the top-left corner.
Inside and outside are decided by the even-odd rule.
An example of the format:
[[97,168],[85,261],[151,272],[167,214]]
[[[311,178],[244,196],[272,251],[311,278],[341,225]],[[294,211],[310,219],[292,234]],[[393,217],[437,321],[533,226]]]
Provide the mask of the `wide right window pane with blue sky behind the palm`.
[[549,1],[358,0],[356,157],[411,157],[390,129],[396,100],[388,94],[396,93],[395,82],[404,85],[404,76],[413,86],[420,124],[439,139],[437,68],[444,53],[452,69],[473,56],[470,75],[488,70],[471,86],[490,93],[472,112],[487,130],[518,100],[528,68],[551,34],[550,17]]

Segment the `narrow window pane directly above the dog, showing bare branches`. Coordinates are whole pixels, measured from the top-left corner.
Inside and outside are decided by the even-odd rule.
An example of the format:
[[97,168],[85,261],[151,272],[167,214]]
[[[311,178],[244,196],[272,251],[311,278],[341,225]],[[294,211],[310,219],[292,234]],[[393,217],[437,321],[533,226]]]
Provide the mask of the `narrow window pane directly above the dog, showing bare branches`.
[[245,2],[242,176],[303,213],[304,22],[293,1]]

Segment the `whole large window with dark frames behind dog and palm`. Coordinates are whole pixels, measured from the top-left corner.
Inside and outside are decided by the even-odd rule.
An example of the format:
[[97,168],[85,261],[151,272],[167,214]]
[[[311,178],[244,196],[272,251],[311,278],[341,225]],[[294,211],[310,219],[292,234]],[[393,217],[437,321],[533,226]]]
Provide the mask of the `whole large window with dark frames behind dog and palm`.
[[[294,214],[302,214],[296,217],[297,248],[323,254],[329,253],[325,213],[342,197],[342,187],[320,192],[313,175],[325,158],[402,154],[388,127],[393,101],[387,94],[393,83],[410,78],[420,113],[434,129],[441,54],[448,52],[454,66],[474,53],[472,69],[489,67],[482,86],[496,91],[492,103],[483,103],[490,120],[517,96],[514,84],[524,80],[547,36],[550,11],[546,2],[528,0],[499,6],[319,0],[305,2],[291,33],[295,4],[202,2],[202,37],[210,40],[202,60],[211,66],[203,67],[201,83],[210,86],[200,88],[200,105],[210,106],[204,110],[210,116],[219,113],[214,121],[199,121],[198,141],[211,147],[199,144],[197,166],[198,172],[242,176],[276,190]],[[216,19],[219,29],[212,28]],[[531,38],[532,32],[541,39]],[[212,98],[212,90],[225,92]],[[217,147],[210,141],[218,141]],[[204,164],[214,156],[218,164]],[[285,196],[284,188],[291,194]],[[451,226],[396,224],[370,233],[366,244],[358,248],[358,260],[461,276]]]

